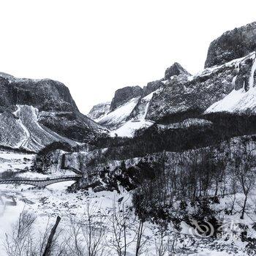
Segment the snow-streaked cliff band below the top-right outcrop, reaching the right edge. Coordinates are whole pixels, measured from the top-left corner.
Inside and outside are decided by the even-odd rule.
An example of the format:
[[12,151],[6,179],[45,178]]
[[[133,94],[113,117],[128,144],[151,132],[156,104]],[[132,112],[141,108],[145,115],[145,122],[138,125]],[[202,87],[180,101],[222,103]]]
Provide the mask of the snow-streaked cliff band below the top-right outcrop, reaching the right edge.
[[[170,80],[159,94],[152,97],[146,118],[158,121],[165,116],[189,110],[203,113],[233,90],[244,89],[245,93],[254,86],[254,63],[255,53],[251,53],[244,59],[236,59],[214,69],[205,69],[187,81],[178,77]],[[252,104],[253,100],[250,102]],[[241,110],[245,110],[244,108],[241,106]],[[219,108],[220,112],[225,110]],[[230,112],[233,111],[236,110],[230,108]]]

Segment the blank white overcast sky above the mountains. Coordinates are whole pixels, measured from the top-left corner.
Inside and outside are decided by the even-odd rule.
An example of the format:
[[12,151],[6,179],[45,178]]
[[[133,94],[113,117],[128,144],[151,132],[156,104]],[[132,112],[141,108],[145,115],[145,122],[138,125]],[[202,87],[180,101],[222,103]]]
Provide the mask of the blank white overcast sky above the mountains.
[[203,69],[209,43],[256,20],[255,0],[0,0],[0,71],[52,78],[82,113],[179,62]]

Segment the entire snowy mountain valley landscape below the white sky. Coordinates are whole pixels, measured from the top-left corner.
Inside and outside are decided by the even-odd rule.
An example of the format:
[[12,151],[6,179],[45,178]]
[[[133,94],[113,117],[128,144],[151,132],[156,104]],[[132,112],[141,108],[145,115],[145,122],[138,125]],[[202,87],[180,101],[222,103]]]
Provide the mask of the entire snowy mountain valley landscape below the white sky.
[[256,255],[255,29],[87,116],[0,73],[0,255]]

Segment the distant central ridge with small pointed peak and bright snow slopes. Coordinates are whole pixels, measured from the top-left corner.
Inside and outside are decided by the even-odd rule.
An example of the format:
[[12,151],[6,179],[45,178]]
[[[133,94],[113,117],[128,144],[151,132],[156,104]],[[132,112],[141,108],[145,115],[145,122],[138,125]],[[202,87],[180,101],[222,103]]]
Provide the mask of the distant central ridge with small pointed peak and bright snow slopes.
[[[132,137],[135,130],[150,127],[154,123],[147,116],[153,95],[159,94],[159,91],[170,84],[170,80],[187,82],[190,76],[180,64],[174,63],[166,69],[165,78],[150,82],[143,89],[135,86],[116,91],[108,114],[94,120],[111,129],[110,135]],[[90,112],[94,112],[96,108],[94,106]]]

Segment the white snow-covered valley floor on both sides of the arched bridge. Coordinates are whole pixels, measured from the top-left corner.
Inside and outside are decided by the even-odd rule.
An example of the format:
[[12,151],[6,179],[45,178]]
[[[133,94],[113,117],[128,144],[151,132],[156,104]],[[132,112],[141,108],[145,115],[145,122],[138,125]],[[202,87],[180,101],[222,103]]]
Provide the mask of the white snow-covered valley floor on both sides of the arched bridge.
[[[14,165],[16,162],[20,168],[30,167],[34,155],[32,154],[20,154],[14,152],[0,151],[1,159],[6,159]],[[26,163],[23,162],[24,157],[27,160]],[[38,173],[30,173],[30,177],[41,177],[42,175]],[[29,176],[29,170],[26,174]],[[29,185],[0,185],[0,238],[3,238],[5,233],[10,233],[12,226],[17,222],[19,214],[25,209],[31,211],[37,215],[37,230],[43,231],[45,225],[48,223],[50,218],[50,223],[53,223],[57,216],[61,217],[60,228],[63,229],[62,233],[67,233],[70,227],[70,217],[75,217],[75,219],[83,219],[86,212],[86,207],[88,203],[91,208],[96,209],[95,213],[104,214],[106,219],[111,219],[113,216],[113,205],[121,206],[122,203],[127,206],[132,205],[132,192],[126,192],[121,190],[121,193],[117,192],[83,192],[79,191],[76,193],[67,192],[67,187],[69,187],[74,181],[67,181],[59,184],[52,184],[45,189],[33,188]],[[10,202],[15,200],[16,205],[8,205],[3,207],[1,202]],[[217,205],[217,209],[225,208],[225,204],[229,203],[233,198],[225,197],[221,199],[220,203]],[[243,201],[243,195],[236,195],[237,206],[239,206]],[[239,203],[240,202],[240,203]],[[255,200],[251,197],[249,200],[250,208],[255,211]],[[128,211],[128,210],[127,210]],[[240,214],[230,215],[227,217],[230,221],[242,222],[244,225],[252,225],[256,219],[253,214],[246,216],[244,220],[239,219]],[[136,225],[134,222],[135,214],[133,210],[129,215],[129,232],[127,232],[128,241],[133,241],[135,237]],[[221,255],[241,255],[245,256],[246,252],[244,248],[246,243],[236,240],[225,241],[223,239],[219,241],[211,240],[211,238],[197,238],[192,236],[189,231],[189,226],[181,225],[181,230],[174,230],[170,225],[169,235],[163,239],[163,243],[171,244],[175,250],[174,255],[194,255],[194,256],[221,256]],[[105,241],[110,242],[113,238],[113,227],[111,227],[108,222],[107,225],[107,236]],[[143,256],[155,256],[157,255],[156,246],[159,246],[159,227],[157,225],[152,225],[146,222],[145,230],[143,231],[143,241],[145,241],[145,246],[143,247]],[[36,234],[35,234],[36,236]],[[253,237],[253,234],[250,234]],[[1,244],[1,243],[0,243]],[[107,243],[108,244],[108,243]],[[116,255],[115,251],[109,248],[106,244],[105,252],[107,255]],[[135,255],[136,243],[133,241],[128,249],[127,255]],[[0,255],[6,256],[2,244],[0,245]],[[167,254],[166,254],[167,255]]]

